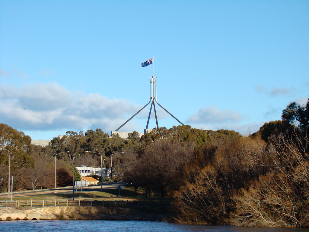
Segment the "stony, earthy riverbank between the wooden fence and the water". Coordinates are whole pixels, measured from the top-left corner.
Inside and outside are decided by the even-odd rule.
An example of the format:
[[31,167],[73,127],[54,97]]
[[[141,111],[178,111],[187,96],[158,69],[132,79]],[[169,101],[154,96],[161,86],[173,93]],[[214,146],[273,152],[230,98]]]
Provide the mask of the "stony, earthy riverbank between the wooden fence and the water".
[[[133,220],[133,221],[162,221],[167,214],[145,213],[136,209],[121,207],[95,207],[95,206],[59,206],[28,209],[0,209],[1,220]],[[31,220],[31,219],[30,219]]]

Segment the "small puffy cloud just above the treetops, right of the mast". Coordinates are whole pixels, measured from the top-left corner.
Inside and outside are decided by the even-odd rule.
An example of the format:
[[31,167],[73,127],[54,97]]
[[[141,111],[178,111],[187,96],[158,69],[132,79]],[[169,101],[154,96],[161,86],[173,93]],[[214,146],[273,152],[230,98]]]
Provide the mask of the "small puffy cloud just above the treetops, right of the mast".
[[243,116],[235,110],[219,111],[218,107],[209,105],[207,108],[201,108],[195,114],[191,115],[187,122],[211,125],[240,122],[241,119],[243,119]]

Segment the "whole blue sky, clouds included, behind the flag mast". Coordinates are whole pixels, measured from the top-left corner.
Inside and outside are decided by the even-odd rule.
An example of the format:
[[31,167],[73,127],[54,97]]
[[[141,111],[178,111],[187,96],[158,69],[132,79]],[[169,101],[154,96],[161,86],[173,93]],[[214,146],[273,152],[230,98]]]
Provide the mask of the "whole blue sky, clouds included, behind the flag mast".
[[[308,41],[309,1],[1,0],[0,122],[33,140],[110,133],[149,101],[154,56],[160,105],[246,135],[307,101]],[[120,131],[143,132],[149,108]]]

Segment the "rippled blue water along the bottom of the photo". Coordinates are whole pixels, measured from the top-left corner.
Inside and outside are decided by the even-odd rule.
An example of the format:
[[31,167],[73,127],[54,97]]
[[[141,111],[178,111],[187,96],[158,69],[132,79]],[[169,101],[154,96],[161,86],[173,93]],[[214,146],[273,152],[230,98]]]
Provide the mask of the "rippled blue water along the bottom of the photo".
[[309,228],[252,228],[234,226],[182,225],[159,221],[0,221],[0,231],[31,232],[309,232]]

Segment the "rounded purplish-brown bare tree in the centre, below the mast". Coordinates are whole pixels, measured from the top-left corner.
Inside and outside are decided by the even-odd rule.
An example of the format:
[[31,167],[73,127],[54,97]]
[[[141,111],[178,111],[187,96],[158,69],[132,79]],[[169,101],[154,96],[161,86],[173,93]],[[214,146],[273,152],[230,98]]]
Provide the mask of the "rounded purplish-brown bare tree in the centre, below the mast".
[[180,187],[184,164],[193,156],[193,148],[167,140],[157,140],[140,155],[140,158],[125,173],[125,180],[133,187],[146,188],[147,195],[152,190],[166,193]]

